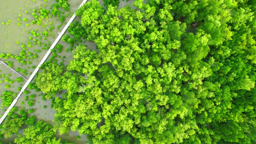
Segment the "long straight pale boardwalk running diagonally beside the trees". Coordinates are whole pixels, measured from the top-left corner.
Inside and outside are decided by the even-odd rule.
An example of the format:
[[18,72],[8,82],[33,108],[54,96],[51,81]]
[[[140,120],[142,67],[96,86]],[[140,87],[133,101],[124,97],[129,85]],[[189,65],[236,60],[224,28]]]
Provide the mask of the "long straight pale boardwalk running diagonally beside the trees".
[[[82,3],[80,4],[79,7],[81,7],[87,0],[83,0]],[[7,114],[10,112],[10,110],[13,108],[13,106],[16,104],[16,102],[18,101],[18,99],[20,98],[20,95],[22,94],[22,92],[26,89],[26,87],[29,85],[29,83],[32,81],[32,79],[34,78],[34,76],[36,75],[36,72],[38,72],[39,67],[43,64],[43,62],[46,61],[47,57],[50,55],[51,53],[51,49],[53,49],[56,44],[59,42],[59,39],[62,37],[62,35],[66,32],[66,30],[69,27],[69,24],[72,23],[72,21],[75,19],[75,13],[73,14],[73,16],[70,18],[70,20],[68,21],[68,23],[66,24],[66,26],[64,26],[64,28],[62,29],[62,31],[59,33],[59,36],[55,39],[55,41],[53,42],[52,46],[49,48],[49,50],[46,52],[46,55],[43,57],[43,59],[41,60],[41,62],[39,62],[39,64],[37,65],[36,69],[34,70],[34,72],[32,73],[32,75],[30,75],[30,78],[26,81],[25,85],[21,88],[20,93],[17,95],[17,97],[13,100],[13,102],[11,103],[11,105],[9,106],[9,108],[7,109],[7,111],[5,111],[5,113],[3,114],[2,118],[0,118],[0,124],[2,124],[3,120],[6,118]]]

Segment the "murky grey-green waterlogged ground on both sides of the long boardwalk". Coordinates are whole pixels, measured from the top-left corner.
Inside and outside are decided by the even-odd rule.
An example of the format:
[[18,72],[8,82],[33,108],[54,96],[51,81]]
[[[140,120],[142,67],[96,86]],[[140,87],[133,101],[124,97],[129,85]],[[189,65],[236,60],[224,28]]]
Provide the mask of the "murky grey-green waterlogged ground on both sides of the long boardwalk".
[[[27,31],[31,31],[33,29],[38,29],[38,31],[42,31],[43,28],[42,26],[38,26],[36,24],[31,25],[30,20],[33,19],[33,16],[31,15],[33,9],[37,9],[39,7],[43,7],[43,5],[46,5],[46,8],[49,8],[51,3],[54,3],[55,0],[48,0],[47,2],[44,2],[44,0],[36,0],[33,2],[33,0],[1,0],[0,1],[0,53],[12,53],[14,55],[19,55],[20,51],[22,50],[20,44],[16,44],[16,42],[19,43],[26,43],[27,40],[29,39],[30,34],[26,33]],[[61,23],[59,20],[56,18],[48,19],[49,22],[53,22],[53,26],[55,26],[55,29],[53,29],[52,36],[49,36],[46,40],[44,40],[45,43],[52,44],[55,38],[58,36],[58,33],[62,30],[62,28],[66,25],[66,22],[69,20],[69,17],[72,16],[74,11],[79,7],[80,3],[82,0],[69,0],[70,3],[70,9],[71,13],[66,13],[68,17],[66,18],[66,21]],[[103,5],[103,0],[99,0],[100,4]],[[132,6],[132,3],[134,0],[128,0],[122,1],[120,0],[118,9],[121,9],[121,7],[126,7],[126,6]],[[25,13],[27,11],[28,13]],[[20,14],[20,16],[19,16]],[[26,17],[29,20],[29,25],[30,26],[25,26],[26,22],[23,21],[23,17]],[[17,26],[17,23],[19,22],[17,19],[20,18],[21,25]],[[80,18],[76,17],[75,20],[80,21]],[[9,22],[8,22],[9,21]],[[1,24],[1,23],[4,23]],[[8,25],[7,25],[8,23]],[[45,21],[45,23],[47,23]],[[43,24],[43,23],[42,23]],[[59,29],[57,29],[57,26],[61,25]],[[68,34],[67,32],[64,34]],[[72,36],[71,36],[72,37]],[[42,40],[43,41],[43,40]],[[69,64],[69,61],[72,59],[72,52],[66,52],[66,49],[69,49],[69,44],[62,42],[61,40],[59,41],[58,44],[61,44],[63,46],[62,52],[57,53],[59,57],[58,59],[59,62],[63,62],[65,65]],[[83,42],[83,43],[77,43],[77,45],[83,44],[87,45],[88,49],[91,50],[96,50],[96,45],[93,42]],[[29,48],[28,50],[30,52],[35,52],[36,49],[40,49],[40,46],[33,46]],[[34,71],[34,67],[38,65],[38,63],[41,61],[43,56],[45,55],[47,50],[42,50],[40,49],[41,52],[37,52],[38,58],[31,60],[31,64],[29,65],[24,65],[18,62],[16,59],[3,59],[0,58],[2,61],[12,61],[13,62],[13,69],[27,69],[26,75],[23,74],[26,78],[29,78],[31,73]],[[75,50],[75,49],[74,49]],[[52,54],[49,56],[51,57]],[[63,58],[63,56],[65,58]],[[49,60],[49,57],[47,60]],[[46,61],[47,61],[46,60]],[[41,72],[41,70],[39,70]],[[13,73],[10,72],[9,69],[5,68],[4,66],[0,65],[0,75],[4,74],[7,76],[7,74],[12,74],[8,78],[11,80],[15,80],[17,76]],[[14,82],[13,84],[10,84],[10,88],[4,88],[5,85],[8,85],[8,82],[4,82],[4,78],[0,78],[0,80],[3,80],[3,83],[0,83],[0,95],[2,94],[3,91],[12,91],[15,93],[19,93],[17,90],[18,87],[22,87],[25,82]],[[35,82],[35,79],[33,79],[32,82]],[[48,121],[50,124],[54,124],[53,119],[54,119],[54,114],[55,111],[51,108],[51,100],[43,100],[42,99],[42,92],[36,92],[35,90],[30,90],[27,88],[27,90],[30,91],[30,94],[24,95],[22,94],[20,96],[19,101],[16,103],[16,107],[21,108],[25,107],[26,110],[29,109],[34,109],[34,113],[30,115],[36,115],[37,119],[42,119],[43,121]],[[26,100],[26,96],[29,95],[36,95],[35,98],[33,98],[33,101],[35,102],[35,105],[32,107],[28,106],[28,100]],[[56,95],[61,97],[62,94]],[[15,96],[13,96],[15,98]],[[0,103],[2,103],[2,99],[0,98]],[[0,108],[0,116],[3,115],[5,109],[7,108]],[[80,136],[81,138],[79,140],[76,139],[76,136],[79,135],[77,131],[70,131],[69,134],[62,134],[59,135],[57,133],[57,137],[62,138],[62,139],[67,139],[70,142],[74,142],[75,144],[84,144],[85,141],[87,141],[86,135]],[[1,141],[8,143],[8,142],[13,142],[14,137],[11,137],[9,139],[4,139]]]

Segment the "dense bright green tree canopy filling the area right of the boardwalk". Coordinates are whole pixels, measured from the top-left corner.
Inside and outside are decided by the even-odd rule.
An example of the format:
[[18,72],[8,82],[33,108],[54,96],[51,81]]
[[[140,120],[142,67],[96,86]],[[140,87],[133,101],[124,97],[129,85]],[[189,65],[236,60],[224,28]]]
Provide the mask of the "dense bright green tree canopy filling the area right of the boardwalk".
[[68,71],[38,75],[43,92],[66,90],[55,128],[102,144],[256,143],[255,0],[142,2],[77,10],[98,52],[78,46]]

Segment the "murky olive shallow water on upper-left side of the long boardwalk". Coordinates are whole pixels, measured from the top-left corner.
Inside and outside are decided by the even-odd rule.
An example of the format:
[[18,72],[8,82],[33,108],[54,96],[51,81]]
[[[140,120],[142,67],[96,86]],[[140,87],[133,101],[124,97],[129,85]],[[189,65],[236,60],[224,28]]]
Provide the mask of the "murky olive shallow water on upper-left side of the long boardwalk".
[[[0,1],[0,53],[11,53],[14,55],[19,55],[21,51],[20,45],[16,44],[16,41],[19,41],[20,43],[25,43],[28,40],[28,37],[30,34],[27,34],[27,31],[31,31],[32,29],[38,29],[38,31],[42,31],[42,26],[37,26],[36,24],[31,25],[30,20],[33,19],[33,16],[31,15],[32,9],[38,10],[38,7],[42,7],[46,4],[46,8],[50,6],[51,3],[54,3],[55,0],[46,0],[48,2],[44,2],[44,0],[36,0],[33,2],[33,0],[1,0]],[[69,15],[72,15],[73,12],[77,9],[79,4],[82,2],[82,0],[70,0],[70,8],[71,13],[67,13]],[[29,10],[31,9],[31,10]],[[28,13],[25,13],[25,11],[28,11]],[[21,16],[18,16],[18,15]],[[30,26],[25,26],[26,22],[24,22],[22,19],[23,17],[26,17],[29,20]],[[17,26],[17,18],[20,18],[21,26]],[[10,20],[10,24],[7,25],[8,20]],[[55,37],[58,36],[58,32],[61,31],[61,29],[64,27],[66,22],[69,20],[69,17],[66,18],[66,22],[63,22],[63,25],[60,27],[60,29],[57,29],[57,25],[60,24],[59,21],[56,21],[56,18],[49,18],[49,21],[53,22],[53,25],[55,26],[55,29],[53,30],[53,36],[49,36],[47,40],[49,40],[49,43],[53,43],[55,40]],[[46,20],[42,22],[46,23]],[[5,23],[4,25],[1,23]],[[25,32],[23,31],[25,30]],[[41,40],[43,41],[43,40]],[[46,41],[45,41],[46,42]],[[29,48],[28,51],[34,52],[36,49],[41,49],[43,46],[34,46],[32,48]],[[42,50],[42,49],[41,49]],[[18,62],[16,59],[3,59],[2,61],[12,61],[13,62],[13,69],[21,68],[21,69],[27,69],[27,75],[24,75],[26,78],[30,76],[30,73],[33,72],[34,68],[31,68],[32,66],[38,65],[42,57],[45,55],[47,50],[42,50],[41,52],[37,52],[38,58],[34,60],[26,60],[31,61],[31,65],[24,65]],[[0,65],[0,74],[8,74],[11,73],[9,69],[6,69],[2,65]],[[14,79],[13,79],[14,80]],[[6,83],[0,83],[0,94],[5,90],[4,85]],[[12,84],[12,87],[7,89],[11,90],[13,92],[17,92],[16,88],[19,87],[19,83]],[[2,113],[0,113],[1,115]]]

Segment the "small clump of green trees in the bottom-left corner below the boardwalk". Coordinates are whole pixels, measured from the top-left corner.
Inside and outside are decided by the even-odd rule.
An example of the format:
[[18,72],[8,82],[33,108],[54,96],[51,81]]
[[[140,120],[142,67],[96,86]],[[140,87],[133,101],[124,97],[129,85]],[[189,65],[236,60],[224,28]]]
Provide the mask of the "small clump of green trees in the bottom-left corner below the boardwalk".
[[[35,119],[35,116],[27,117],[24,107],[20,111],[16,107],[12,108],[0,125],[0,138],[16,134],[15,144],[72,144],[66,140],[56,139],[52,125],[41,120],[35,122]],[[22,130],[21,133],[19,130]]]

